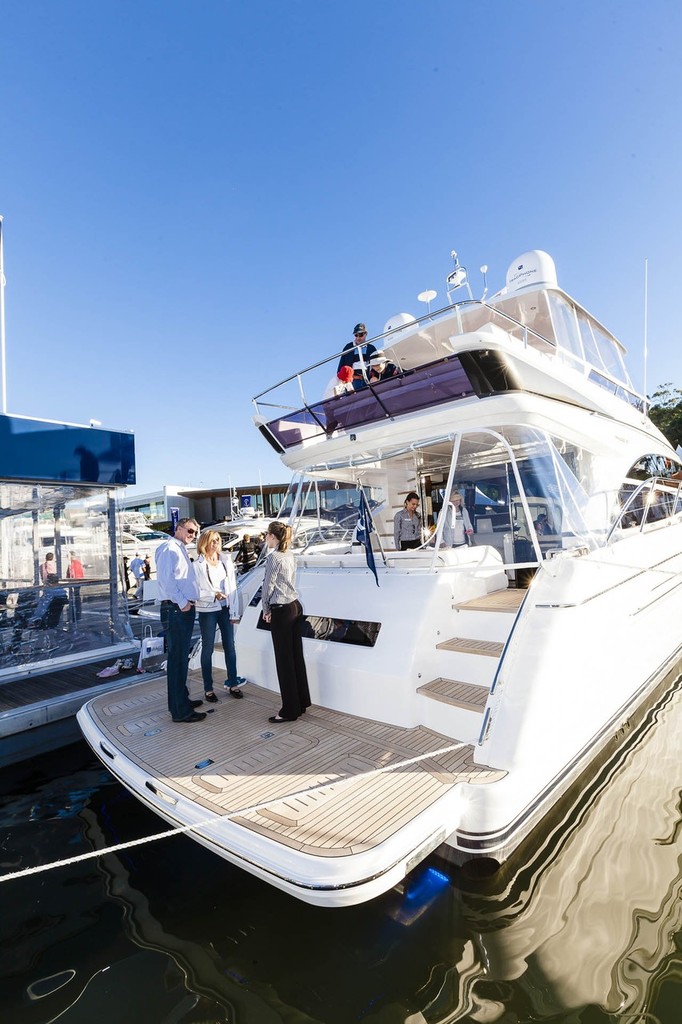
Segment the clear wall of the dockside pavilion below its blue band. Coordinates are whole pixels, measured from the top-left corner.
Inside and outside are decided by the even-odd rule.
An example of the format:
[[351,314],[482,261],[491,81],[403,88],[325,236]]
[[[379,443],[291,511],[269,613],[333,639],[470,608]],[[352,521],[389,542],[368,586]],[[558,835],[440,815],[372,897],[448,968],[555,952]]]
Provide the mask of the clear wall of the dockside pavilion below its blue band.
[[112,490],[0,484],[0,680],[131,638]]

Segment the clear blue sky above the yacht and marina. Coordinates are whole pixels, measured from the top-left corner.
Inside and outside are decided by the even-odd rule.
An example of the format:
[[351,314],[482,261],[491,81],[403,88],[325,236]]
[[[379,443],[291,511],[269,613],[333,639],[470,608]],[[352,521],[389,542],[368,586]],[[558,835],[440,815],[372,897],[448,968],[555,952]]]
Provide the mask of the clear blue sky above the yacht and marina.
[[[3,0],[9,412],[135,432],[138,490],[288,478],[251,397],[545,249],[682,387],[682,5]],[[471,274],[477,288],[477,273]],[[438,303],[436,303],[438,304]]]

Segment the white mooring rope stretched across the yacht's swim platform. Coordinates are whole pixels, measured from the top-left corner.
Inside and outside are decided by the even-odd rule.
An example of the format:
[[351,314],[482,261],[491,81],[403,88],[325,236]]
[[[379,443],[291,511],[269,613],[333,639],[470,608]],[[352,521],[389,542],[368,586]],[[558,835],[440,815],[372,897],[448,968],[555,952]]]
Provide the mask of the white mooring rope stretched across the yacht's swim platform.
[[7,874],[0,874],[0,882],[13,882],[17,879],[26,879],[31,874],[42,874],[44,871],[52,871],[56,867],[65,867],[68,864],[78,864],[84,860],[92,860],[94,857],[103,857],[108,853],[120,853],[123,850],[131,850],[135,846],[144,846],[146,843],[157,843],[161,839],[169,839],[172,836],[181,836],[185,833],[203,828],[206,825],[219,824],[223,821],[229,821],[232,818],[242,817],[245,814],[262,811],[264,808],[271,807],[273,804],[281,804],[285,800],[296,800],[299,797],[305,797],[318,790],[329,788],[330,786],[338,787],[344,785],[345,783],[357,782],[361,779],[372,778],[375,775],[383,775],[386,774],[386,772],[397,771],[400,768],[409,768],[411,765],[419,764],[420,761],[427,761],[429,758],[441,757],[443,754],[452,754],[455,751],[462,750],[463,746],[467,745],[468,744],[464,742],[451,743],[449,746],[441,746],[437,751],[429,751],[427,754],[418,754],[414,758],[408,758],[407,760],[398,761],[395,764],[385,765],[383,768],[372,768],[370,771],[359,772],[357,775],[346,775],[345,777],[336,780],[317,782],[304,790],[297,790],[295,793],[288,793],[285,796],[273,797],[271,800],[265,800],[259,804],[251,804],[248,807],[242,807],[239,811],[230,811],[227,814],[215,813],[210,818],[206,818],[202,821],[195,821],[188,825],[177,825],[174,828],[169,828],[163,833],[157,833],[154,836],[144,836],[142,839],[133,839],[126,843],[117,843],[115,846],[108,846],[102,850],[90,850],[88,853],[80,853],[75,857],[65,857],[61,860],[53,860],[49,864],[39,864],[37,867],[25,867],[18,871],[9,871]]

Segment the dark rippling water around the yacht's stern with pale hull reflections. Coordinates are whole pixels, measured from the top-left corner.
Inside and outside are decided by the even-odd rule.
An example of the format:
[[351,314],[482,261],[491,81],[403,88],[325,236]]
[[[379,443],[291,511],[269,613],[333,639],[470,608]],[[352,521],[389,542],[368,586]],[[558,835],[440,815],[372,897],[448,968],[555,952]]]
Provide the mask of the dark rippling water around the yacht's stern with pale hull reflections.
[[[319,909],[179,837],[0,885],[2,1024],[680,1024],[682,695],[532,863]],[[0,873],[164,830],[84,743],[0,772]]]

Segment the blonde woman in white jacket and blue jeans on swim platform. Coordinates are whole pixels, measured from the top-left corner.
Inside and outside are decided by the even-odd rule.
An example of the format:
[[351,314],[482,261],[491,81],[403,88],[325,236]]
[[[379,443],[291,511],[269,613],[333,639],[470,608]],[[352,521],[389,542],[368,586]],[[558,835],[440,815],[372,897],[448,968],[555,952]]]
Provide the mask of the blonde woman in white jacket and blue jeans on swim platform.
[[242,697],[239,688],[246,683],[237,675],[237,651],[235,650],[235,624],[242,617],[242,600],[237,588],[235,565],[229,555],[221,551],[220,534],[208,529],[197,544],[199,558],[195,564],[195,579],[199,587],[197,612],[202,634],[202,676],[204,677],[205,699],[217,703],[213,691],[213,648],[215,631],[220,630],[222,649],[225,653],[227,679],[225,689],[233,697]]

